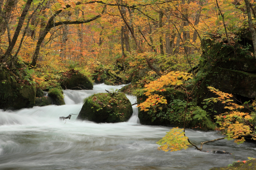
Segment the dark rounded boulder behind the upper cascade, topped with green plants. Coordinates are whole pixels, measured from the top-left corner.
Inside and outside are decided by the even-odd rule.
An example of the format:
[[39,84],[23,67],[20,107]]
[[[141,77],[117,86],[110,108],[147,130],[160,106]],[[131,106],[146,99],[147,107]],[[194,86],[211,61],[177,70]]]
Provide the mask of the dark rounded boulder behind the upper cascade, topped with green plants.
[[92,90],[92,81],[84,74],[76,70],[69,70],[62,74],[61,82],[62,89],[71,90]]

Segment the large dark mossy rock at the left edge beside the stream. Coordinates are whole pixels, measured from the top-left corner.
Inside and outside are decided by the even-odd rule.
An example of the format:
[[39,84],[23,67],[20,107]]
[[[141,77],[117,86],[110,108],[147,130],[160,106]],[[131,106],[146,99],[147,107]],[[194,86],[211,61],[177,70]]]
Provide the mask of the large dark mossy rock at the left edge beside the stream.
[[8,69],[0,71],[0,109],[22,109],[35,104],[36,88],[28,82],[17,82]]

